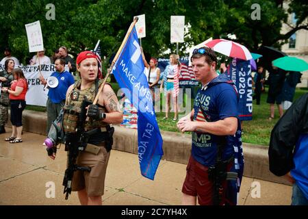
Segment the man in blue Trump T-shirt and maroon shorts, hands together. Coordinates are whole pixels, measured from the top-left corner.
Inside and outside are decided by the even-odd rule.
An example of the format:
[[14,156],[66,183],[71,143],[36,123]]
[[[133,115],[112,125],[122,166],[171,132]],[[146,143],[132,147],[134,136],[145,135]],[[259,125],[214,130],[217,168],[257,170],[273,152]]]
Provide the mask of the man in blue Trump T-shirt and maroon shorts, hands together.
[[214,51],[195,49],[191,60],[202,88],[192,112],[177,123],[180,131],[192,131],[182,204],[196,205],[198,196],[199,205],[236,205],[244,166],[238,94],[227,75],[216,74]]

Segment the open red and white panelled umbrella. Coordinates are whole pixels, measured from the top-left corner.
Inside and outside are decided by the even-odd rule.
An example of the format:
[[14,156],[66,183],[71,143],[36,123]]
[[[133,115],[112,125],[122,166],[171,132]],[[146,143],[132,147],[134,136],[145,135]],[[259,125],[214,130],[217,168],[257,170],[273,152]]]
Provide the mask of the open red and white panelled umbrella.
[[241,60],[251,60],[253,58],[246,47],[231,40],[216,39],[207,42],[205,45],[229,57],[236,57]]

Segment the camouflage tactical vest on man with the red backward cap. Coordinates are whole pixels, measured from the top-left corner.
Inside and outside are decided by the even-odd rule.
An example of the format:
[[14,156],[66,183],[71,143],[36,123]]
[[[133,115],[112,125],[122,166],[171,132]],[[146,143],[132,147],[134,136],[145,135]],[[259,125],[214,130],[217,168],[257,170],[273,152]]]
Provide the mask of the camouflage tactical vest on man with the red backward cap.
[[[101,85],[103,81],[99,81]],[[81,112],[81,103],[84,101],[84,98],[88,101],[94,101],[95,98],[95,83],[92,84],[90,88],[80,90],[81,80],[76,81],[73,87],[73,90],[68,95],[68,99],[64,105],[64,119],[63,119],[63,128],[65,132],[75,133],[77,128],[77,122],[79,119],[79,114]],[[104,106],[99,105],[100,112],[106,112]],[[108,123],[104,123],[103,120],[93,120],[88,118],[85,124],[85,130],[90,131],[95,128],[106,127]]]

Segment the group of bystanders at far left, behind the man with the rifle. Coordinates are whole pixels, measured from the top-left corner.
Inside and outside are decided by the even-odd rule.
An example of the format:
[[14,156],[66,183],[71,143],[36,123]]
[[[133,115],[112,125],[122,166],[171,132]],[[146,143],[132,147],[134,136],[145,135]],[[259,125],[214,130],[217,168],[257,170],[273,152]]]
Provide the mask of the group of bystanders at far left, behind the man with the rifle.
[[[59,85],[56,88],[49,88],[49,98],[47,100],[47,133],[52,121],[59,115],[60,108],[64,106],[65,93],[67,88],[73,84],[74,77],[71,73],[75,72],[76,64],[66,47],[60,47],[52,57],[44,55],[44,51],[38,51],[36,55],[27,60],[27,64],[55,64],[55,72],[51,76],[56,77]],[[8,47],[4,49],[3,59],[0,64],[4,66],[0,72],[1,95],[0,95],[0,133],[5,133],[5,123],[8,123],[8,107],[10,106],[10,121],[12,123],[12,135],[5,138],[10,143],[22,142],[23,132],[22,113],[25,109],[25,94],[27,93],[28,83],[23,71],[20,68],[19,60],[12,56],[12,50]],[[70,73],[64,70],[68,65]],[[46,85],[47,80],[40,75],[40,81]],[[60,79],[61,78],[61,79]],[[17,104],[18,103],[18,104]]]

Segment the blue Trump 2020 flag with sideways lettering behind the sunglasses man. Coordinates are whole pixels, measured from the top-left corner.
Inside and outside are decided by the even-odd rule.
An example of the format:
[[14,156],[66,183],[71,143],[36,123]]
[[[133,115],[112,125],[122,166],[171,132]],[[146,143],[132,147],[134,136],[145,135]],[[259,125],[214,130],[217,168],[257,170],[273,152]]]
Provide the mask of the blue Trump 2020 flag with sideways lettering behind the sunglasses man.
[[229,79],[235,83],[239,95],[238,114],[240,120],[253,119],[253,79],[250,61],[234,58],[227,70]]

